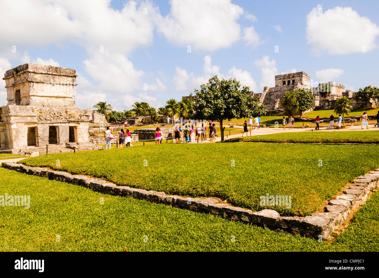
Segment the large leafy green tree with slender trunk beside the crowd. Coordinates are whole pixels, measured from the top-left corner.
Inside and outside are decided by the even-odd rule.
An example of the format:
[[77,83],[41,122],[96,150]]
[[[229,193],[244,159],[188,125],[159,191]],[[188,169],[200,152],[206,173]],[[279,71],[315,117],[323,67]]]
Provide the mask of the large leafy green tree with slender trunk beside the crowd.
[[219,121],[221,141],[224,141],[224,120],[266,114],[264,104],[260,104],[258,98],[249,96],[249,90],[248,86],[241,88],[236,79],[219,80],[215,75],[207,84],[202,84],[200,90],[194,91],[194,116]]

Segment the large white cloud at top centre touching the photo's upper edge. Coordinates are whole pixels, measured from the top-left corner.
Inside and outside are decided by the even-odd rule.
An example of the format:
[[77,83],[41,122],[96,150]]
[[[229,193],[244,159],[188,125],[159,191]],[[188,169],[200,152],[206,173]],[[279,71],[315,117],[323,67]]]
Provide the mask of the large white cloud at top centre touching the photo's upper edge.
[[230,0],[172,0],[170,13],[160,16],[157,25],[158,31],[178,46],[216,50],[240,39],[241,27],[236,21],[242,14],[243,9]]

